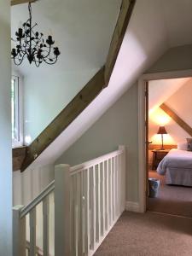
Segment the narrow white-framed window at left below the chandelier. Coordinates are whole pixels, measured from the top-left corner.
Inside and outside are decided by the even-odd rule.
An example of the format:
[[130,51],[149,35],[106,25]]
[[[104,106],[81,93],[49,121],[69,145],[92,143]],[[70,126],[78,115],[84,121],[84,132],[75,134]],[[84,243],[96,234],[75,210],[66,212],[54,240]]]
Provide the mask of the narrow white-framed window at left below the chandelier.
[[19,146],[22,144],[21,139],[21,106],[20,106],[20,78],[12,76],[11,79],[11,121],[12,121],[12,144]]

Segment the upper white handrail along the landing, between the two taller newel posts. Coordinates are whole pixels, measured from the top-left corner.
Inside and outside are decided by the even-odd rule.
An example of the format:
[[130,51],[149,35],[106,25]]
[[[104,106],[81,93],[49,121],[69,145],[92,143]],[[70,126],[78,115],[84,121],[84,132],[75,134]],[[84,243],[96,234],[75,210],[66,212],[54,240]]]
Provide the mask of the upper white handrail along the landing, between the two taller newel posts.
[[99,163],[101,163],[103,160],[108,160],[109,158],[112,158],[116,155],[119,155],[123,153],[123,150],[115,150],[111,153],[108,153],[108,154],[103,154],[102,156],[99,156],[97,157],[96,159],[94,160],[89,160],[89,161],[86,161],[80,165],[77,165],[77,166],[73,166],[71,167],[71,175],[79,172],[80,170],[84,170],[84,168],[89,168],[90,166],[94,166],[94,165],[98,165]]

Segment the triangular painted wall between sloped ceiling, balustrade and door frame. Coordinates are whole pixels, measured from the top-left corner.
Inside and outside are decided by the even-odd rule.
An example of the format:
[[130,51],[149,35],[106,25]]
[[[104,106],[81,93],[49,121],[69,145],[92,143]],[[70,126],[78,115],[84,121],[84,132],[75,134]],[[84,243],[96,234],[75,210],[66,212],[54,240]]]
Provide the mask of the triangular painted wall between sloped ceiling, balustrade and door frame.
[[137,84],[122,96],[102,118],[92,125],[56,163],[79,164],[116,150],[118,145],[127,147],[127,195],[137,201]]

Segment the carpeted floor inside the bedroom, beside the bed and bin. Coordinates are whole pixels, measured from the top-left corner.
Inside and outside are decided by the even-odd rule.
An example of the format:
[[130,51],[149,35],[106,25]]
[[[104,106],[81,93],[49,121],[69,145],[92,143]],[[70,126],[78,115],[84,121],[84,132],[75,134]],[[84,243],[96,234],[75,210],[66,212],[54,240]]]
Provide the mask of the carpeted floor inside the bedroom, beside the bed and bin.
[[160,179],[158,197],[148,198],[148,211],[192,218],[192,188],[166,185],[165,177],[156,171],[149,171],[148,176]]

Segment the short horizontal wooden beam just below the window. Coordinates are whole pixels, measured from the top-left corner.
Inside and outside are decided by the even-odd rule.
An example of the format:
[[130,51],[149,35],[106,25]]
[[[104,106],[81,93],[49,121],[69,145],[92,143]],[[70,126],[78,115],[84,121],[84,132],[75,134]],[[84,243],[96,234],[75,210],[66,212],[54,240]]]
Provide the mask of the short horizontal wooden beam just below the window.
[[13,148],[13,171],[20,170],[23,160],[26,157],[26,147]]

